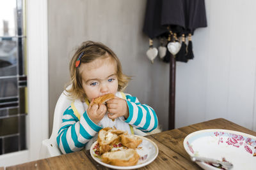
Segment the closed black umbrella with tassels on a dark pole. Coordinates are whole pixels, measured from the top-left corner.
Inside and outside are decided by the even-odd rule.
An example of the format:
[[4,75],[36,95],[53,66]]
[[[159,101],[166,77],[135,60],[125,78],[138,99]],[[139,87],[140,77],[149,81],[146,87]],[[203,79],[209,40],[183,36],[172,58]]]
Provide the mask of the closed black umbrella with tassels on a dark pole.
[[[206,27],[204,0],[147,0],[146,15],[143,25],[143,32],[150,39],[166,39],[172,32],[182,37],[182,45],[176,60],[188,62],[193,59],[191,36],[198,27]],[[186,45],[188,37],[188,46]],[[171,43],[171,42],[169,42]],[[175,106],[175,56],[166,52],[163,61],[170,62],[170,106],[169,106],[169,129],[174,129],[174,106]],[[172,53],[172,52],[171,52]]]

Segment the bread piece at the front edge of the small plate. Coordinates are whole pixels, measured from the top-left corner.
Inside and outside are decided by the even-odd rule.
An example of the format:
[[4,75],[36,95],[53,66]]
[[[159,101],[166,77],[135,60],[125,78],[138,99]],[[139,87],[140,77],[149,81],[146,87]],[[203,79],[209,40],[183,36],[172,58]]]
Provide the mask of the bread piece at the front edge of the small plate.
[[134,149],[118,150],[115,152],[103,153],[102,162],[113,166],[134,166],[137,164],[140,155]]

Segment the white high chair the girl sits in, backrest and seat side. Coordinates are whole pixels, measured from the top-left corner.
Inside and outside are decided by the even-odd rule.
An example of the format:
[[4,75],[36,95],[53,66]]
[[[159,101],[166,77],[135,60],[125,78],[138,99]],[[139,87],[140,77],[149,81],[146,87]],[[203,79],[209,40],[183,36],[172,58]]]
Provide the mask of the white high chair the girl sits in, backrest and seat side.
[[[69,85],[67,89],[70,89],[70,87],[71,85]],[[70,106],[70,104],[72,103],[69,97],[65,94],[68,94],[66,90],[61,93],[61,96],[56,103],[54,110],[52,134],[49,139],[45,139],[44,141],[42,141],[39,155],[40,159],[61,155],[56,138],[58,136],[58,131],[61,127],[62,115],[64,111],[68,108],[68,106]]]

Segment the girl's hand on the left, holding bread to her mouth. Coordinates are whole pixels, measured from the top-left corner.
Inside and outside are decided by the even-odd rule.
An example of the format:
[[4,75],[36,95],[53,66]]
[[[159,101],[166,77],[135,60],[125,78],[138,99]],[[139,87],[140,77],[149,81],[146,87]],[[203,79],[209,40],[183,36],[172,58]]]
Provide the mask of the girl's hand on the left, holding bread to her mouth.
[[93,101],[90,103],[89,108],[87,110],[88,117],[94,122],[98,124],[100,120],[104,117],[107,111],[107,107],[104,104],[94,104]]

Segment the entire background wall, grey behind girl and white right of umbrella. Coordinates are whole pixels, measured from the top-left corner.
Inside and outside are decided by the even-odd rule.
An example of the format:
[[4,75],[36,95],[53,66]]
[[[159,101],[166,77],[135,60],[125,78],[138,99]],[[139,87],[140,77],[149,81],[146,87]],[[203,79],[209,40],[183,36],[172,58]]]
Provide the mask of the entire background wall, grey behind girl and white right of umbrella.
[[[152,106],[168,127],[169,66],[150,64],[143,34],[146,0],[48,2],[49,114],[69,80],[68,60],[82,41],[101,41],[133,76],[127,92]],[[176,127],[223,117],[256,131],[256,2],[206,0],[208,27],[193,36],[195,59],[177,62]],[[50,127],[50,130],[51,130]]]

